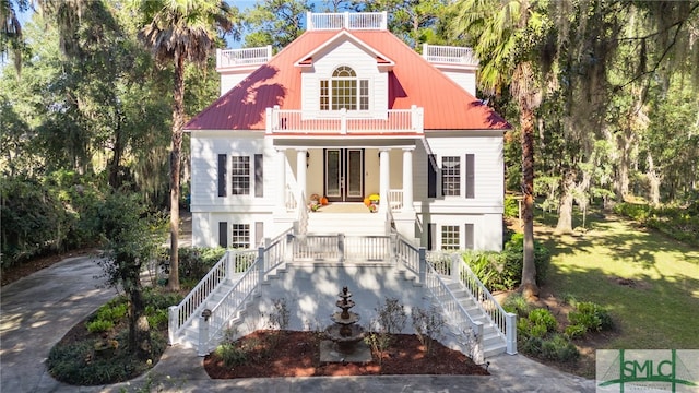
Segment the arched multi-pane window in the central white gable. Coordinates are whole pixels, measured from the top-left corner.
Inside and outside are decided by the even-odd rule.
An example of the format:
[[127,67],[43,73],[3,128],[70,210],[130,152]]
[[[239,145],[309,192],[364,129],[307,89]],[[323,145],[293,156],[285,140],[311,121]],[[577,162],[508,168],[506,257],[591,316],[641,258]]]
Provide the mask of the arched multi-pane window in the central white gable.
[[332,78],[320,81],[320,110],[369,110],[369,80],[357,79],[347,66],[337,67]]

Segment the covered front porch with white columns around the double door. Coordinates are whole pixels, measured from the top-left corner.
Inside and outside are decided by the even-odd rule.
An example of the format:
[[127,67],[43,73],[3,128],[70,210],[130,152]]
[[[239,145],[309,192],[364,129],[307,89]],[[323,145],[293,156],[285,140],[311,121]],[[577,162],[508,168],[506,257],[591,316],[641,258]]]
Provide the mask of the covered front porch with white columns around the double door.
[[[378,213],[414,217],[415,141],[391,145],[365,141],[353,146],[337,141],[275,141],[280,181],[275,211],[281,215],[309,209],[313,200],[332,213],[367,213],[365,200],[379,198]],[[357,141],[360,142],[360,141]]]

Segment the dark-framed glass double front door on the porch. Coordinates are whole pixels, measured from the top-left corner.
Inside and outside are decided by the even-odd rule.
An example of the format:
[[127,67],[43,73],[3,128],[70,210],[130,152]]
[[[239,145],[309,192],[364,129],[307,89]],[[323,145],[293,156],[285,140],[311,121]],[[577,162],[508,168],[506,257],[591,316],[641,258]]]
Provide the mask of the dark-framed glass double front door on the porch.
[[364,148],[325,148],[324,193],[331,202],[364,200]]

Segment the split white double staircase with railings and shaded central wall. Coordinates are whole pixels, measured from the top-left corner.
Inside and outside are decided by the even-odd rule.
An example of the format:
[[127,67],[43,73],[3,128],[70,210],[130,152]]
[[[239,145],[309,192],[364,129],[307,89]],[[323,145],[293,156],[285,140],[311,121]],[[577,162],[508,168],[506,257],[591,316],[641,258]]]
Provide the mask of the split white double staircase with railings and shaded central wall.
[[[351,218],[354,215],[359,217]],[[197,348],[203,356],[228,331],[237,337],[264,329],[260,322],[273,299],[289,300],[288,329],[322,327],[328,323],[322,315],[336,311],[332,299],[337,288],[350,285],[356,290],[357,305],[366,308],[356,311],[368,321],[375,307],[388,298],[400,299],[408,310],[434,306],[447,322],[439,337],[443,345],[476,362],[517,353],[516,315],[501,309],[459,254],[448,260],[437,255],[430,262],[424,249],[405,239],[366,236],[368,228],[382,226],[378,217],[372,213],[323,215],[317,224],[334,221],[336,228],[342,219],[340,227],[362,228],[365,235],[286,234],[265,241],[269,246],[260,247],[252,264],[256,253],[229,251],[180,305],[170,307],[170,343]],[[350,221],[360,225],[347,225]],[[319,227],[313,230],[322,231]],[[245,265],[245,273],[236,273]],[[323,300],[329,294],[331,300]]]

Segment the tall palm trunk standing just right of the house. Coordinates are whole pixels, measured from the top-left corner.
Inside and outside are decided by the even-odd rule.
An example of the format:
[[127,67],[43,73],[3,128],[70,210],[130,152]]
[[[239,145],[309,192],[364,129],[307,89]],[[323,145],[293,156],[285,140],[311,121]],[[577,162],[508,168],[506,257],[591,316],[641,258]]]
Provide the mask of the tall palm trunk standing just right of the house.
[[525,299],[538,296],[536,265],[534,264],[534,111],[529,105],[520,106],[522,127],[522,218],[524,221],[524,262],[520,290]]

